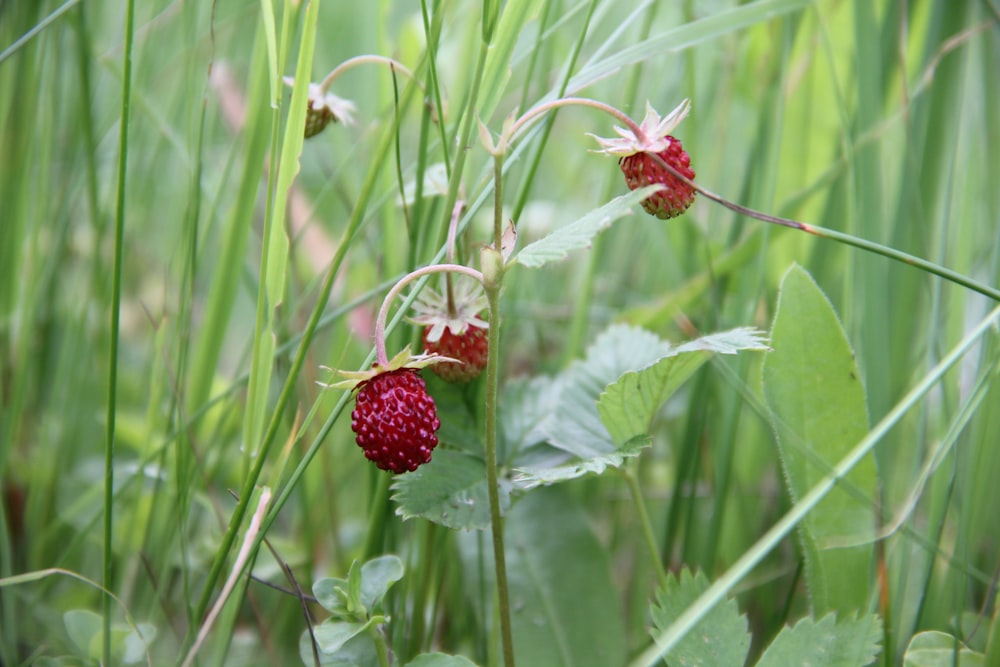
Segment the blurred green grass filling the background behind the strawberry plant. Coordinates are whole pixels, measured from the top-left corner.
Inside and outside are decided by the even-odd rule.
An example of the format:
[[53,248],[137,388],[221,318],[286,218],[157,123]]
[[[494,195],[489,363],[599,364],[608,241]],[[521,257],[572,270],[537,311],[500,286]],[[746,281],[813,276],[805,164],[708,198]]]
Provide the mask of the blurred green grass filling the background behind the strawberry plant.
[[[303,79],[361,54],[414,78],[376,62],[345,71],[331,90],[355,122],[303,142]],[[0,2],[0,664],[312,664],[300,644],[332,604],[308,599],[314,582],[347,582],[383,554],[401,578],[383,575],[384,601],[368,602],[390,619],[376,634],[398,664],[429,651],[501,664],[488,517],[411,511],[419,486],[390,490],[354,443],[350,395],[318,384],[323,366],[371,363],[382,297],[442,261],[457,200],[459,260],[477,264],[492,240],[477,120],[495,138],[511,113],[567,95],[637,119],[646,100],[665,112],[687,97],[676,134],[698,183],[995,292],[998,61],[994,0]],[[511,147],[500,213],[519,247],[626,192],[586,136],[613,124],[560,108]],[[650,446],[609,465],[622,474],[514,488],[519,662],[653,664],[670,649],[651,627],[670,642],[697,624],[671,625],[689,607],[674,614],[669,591],[715,581],[731,600],[712,613],[746,614],[752,660],[783,627],[823,627],[833,611],[877,615],[884,664],[925,631],[947,640],[935,664],[993,664],[996,303],[705,197],[669,222],[634,208],[589,250],[506,276],[501,446],[538,444],[545,392],[614,340],[602,332],[623,331],[609,327],[678,343],[769,330],[796,263],[850,347],[819,320],[786,319],[798,367],[785,356],[762,372],[774,341],[720,355],[654,410]],[[390,354],[419,336],[396,313]],[[835,397],[762,389],[778,369],[808,385],[811,349],[853,350],[864,392],[850,414]],[[485,380],[429,386],[443,425],[428,470],[480,446],[487,395]],[[870,530],[824,546],[807,516],[799,539],[762,545],[789,511],[828,516],[803,502],[839,457],[805,456],[804,478],[790,461],[815,444],[803,415],[830,405],[845,410],[842,431],[822,427],[838,451],[884,426],[872,465],[834,485]],[[859,548],[864,567],[823,569],[849,562],[826,552]],[[665,574],[682,568],[704,577]],[[823,572],[861,604],[821,595]],[[699,632],[713,618],[719,632],[712,615]]]

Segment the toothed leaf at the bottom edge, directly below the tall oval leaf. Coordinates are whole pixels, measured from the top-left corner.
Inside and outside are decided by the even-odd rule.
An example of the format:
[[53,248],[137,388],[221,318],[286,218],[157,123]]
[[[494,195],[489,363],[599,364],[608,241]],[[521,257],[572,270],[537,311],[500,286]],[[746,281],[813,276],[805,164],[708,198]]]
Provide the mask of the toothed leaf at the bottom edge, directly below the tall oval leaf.
[[882,621],[874,614],[837,621],[804,618],[784,628],[764,651],[757,667],[864,667],[881,652]]

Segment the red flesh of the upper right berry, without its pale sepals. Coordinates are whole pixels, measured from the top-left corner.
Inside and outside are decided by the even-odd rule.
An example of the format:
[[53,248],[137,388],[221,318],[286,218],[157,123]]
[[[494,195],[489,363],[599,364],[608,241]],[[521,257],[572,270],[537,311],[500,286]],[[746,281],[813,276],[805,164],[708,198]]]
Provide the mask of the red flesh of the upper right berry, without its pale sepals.
[[[670,136],[666,139],[670,145],[656,155],[693,181],[691,156],[681,146],[680,140]],[[667,171],[650,153],[626,155],[618,160],[618,164],[625,174],[625,182],[632,190],[654,183],[665,186],[659,192],[642,200],[642,207],[650,215],[655,215],[661,220],[675,218],[686,211],[694,201],[695,189]]]

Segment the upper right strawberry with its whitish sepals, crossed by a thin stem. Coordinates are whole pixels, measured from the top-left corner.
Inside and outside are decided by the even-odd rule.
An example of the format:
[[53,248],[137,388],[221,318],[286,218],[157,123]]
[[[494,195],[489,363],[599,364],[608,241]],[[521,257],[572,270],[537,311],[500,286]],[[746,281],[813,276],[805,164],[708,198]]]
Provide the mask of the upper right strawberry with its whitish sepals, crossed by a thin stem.
[[642,207],[647,213],[662,220],[680,215],[694,201],[695,189],[663,166],[666,163],[685,178],[694,180],[691,157],[681,146],[680,140],[670,135],[687,116],[689,108],[690,104],[684,100],[661,119],[647,102],[646,117],[639,124],[639,136],[631,130],[616,127],[615,131],[620,135],[618,138],[594,137],[602,146],[599,152],[621,156],[618,164],[630,189],[656,183],[664,186],[642,201]]

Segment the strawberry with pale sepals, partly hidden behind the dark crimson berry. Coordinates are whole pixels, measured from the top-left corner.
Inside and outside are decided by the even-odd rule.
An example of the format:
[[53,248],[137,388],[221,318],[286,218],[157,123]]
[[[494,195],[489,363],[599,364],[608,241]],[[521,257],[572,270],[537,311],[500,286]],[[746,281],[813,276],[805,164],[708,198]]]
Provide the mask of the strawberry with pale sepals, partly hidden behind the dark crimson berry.
[[424,353],[460,362],[431,368],[446,382],[468,382],[486,368],[490,325],[479,317],[486,305],[482,290],[469,282],[455,285],[450,299],[426,289],[414,304],[417,315],[410,321],[425,325]]

